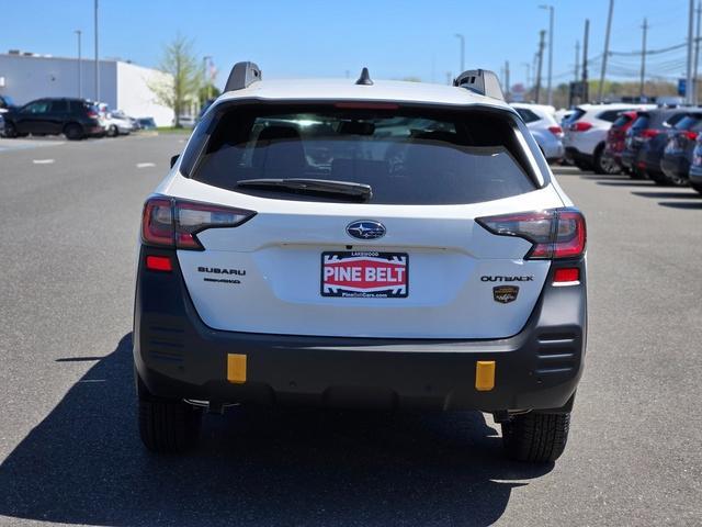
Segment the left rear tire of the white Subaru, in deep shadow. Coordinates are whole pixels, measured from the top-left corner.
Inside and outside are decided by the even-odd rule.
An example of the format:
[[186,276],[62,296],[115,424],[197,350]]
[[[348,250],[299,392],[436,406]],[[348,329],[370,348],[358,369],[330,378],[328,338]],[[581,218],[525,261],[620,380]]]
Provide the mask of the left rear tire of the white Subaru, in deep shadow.
[[147,449],[157,453],[179,453],[197,445],[201,408],[152,395],[138,377],[137,395],[139,436]]

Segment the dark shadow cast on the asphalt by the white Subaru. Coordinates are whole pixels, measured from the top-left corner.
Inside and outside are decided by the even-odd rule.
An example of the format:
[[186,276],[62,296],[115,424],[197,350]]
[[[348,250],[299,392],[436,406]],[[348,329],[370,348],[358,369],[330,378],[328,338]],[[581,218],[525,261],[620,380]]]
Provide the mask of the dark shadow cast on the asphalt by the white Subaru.
[[131,334],[0,466],[0,515],[133,525],[490,525],[550,472],[479,413],[229,411],[182,457],[144,450]]

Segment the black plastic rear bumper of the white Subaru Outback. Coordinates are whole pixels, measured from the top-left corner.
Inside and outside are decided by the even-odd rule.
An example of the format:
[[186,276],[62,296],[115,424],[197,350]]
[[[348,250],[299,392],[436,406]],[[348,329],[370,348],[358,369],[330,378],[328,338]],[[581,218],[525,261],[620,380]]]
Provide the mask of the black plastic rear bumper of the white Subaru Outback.
[[[203,324],[174,271],[144,269],[136,288],[134,359],[159,396],[332,407],[547,410],[575,393],[586,348],[585,261],[579,285],[546,285],[525,327],[499,340],[423,340],[235,333]],[[551,270],[553,273],[553,268]],[[548,277],[551,283],[551,276]],[[246,355],[246,382],[227,381],[227,356]],[[495,361],[477,391],[476,362]]]

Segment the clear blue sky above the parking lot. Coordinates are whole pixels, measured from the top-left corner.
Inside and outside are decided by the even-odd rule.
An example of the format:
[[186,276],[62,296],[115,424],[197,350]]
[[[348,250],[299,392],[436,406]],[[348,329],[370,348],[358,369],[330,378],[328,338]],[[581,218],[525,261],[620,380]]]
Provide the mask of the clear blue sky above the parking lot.
[[[356,76],[419,77],[445,82],[460,68],[458,40],[466,38],[466,69],[500,71],[510,61],[512,82],[524,81],[547,11],[539,0],[432,1],[219,1],[100,0],[100,54],[156,66],[162,45],[178,32],[192,37],[200,56],[212,55],[223,85],[237,60],[257,61],[269,78]],[[602,53],[608,0],[551,0],[555,5],[554,83],[570,80],[575,42],[590,19],[590,56]],[[0,52],[20,48],[76,55],[73,30],[83,31],[83,55],[93,53],[93,0],[0,0]],[[648,16],[648,45],[687,38],[688,0],[615,0],[611,48],[641,48]],[[632,75],[635,57],[612,59]],[[684,49],[654,57],[648,69],[670,78],[682,72]],[[544,61],[544,78],[546,66]],[[596,64],[597,66],[597,64]],[[591,70],[590,77],[599,76]]]

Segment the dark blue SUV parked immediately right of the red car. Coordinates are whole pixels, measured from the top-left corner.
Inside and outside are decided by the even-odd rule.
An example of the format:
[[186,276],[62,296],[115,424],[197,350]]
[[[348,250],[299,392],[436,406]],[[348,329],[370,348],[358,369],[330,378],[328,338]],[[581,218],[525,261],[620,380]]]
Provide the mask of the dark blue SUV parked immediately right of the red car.
[[622,165],[634,179],[649,177],[661,179],[660,157],[667,143],[667,133],[682,120],[688,110],[683,108],[658,108],[637,113],[626,131]]

